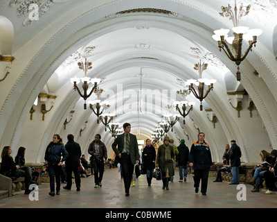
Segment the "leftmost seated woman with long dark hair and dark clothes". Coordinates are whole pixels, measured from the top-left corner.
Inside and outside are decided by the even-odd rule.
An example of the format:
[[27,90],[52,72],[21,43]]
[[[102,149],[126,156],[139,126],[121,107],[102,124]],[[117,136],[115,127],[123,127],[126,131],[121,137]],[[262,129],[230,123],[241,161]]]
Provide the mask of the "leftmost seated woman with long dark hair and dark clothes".
[[[29,167],[19,167],[15,164],[12,156],[12,148],[10,146],[5,146],[1,153],[2,163],[1,163],[1,174],[8,177],[24,177],[25,178],[25,193],[30,194],[29,186],[32,181],[32,176]],[[20,169],[19,169],[20,168]]]

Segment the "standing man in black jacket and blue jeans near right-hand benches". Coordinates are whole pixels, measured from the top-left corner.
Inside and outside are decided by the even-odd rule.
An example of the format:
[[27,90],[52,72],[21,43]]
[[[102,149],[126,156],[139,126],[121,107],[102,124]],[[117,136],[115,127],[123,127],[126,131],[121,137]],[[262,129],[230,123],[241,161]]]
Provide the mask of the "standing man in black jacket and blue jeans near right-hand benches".
[[231,173],[232,180],[230,185],[238,185],[240,181],[239,177],[239,167],[240,167],[240,157],[242,153],[240,151],[240,146],[235,143],[235,140],[231,140],[231,148],[230,148],[230,164],[231,164]]

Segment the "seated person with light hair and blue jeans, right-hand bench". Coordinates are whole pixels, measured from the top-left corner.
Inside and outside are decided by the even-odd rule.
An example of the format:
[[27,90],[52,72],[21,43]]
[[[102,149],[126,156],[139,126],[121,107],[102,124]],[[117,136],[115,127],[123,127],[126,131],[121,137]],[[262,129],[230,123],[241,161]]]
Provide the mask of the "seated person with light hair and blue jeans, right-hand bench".
[[[271,162],[271,154],[268,153],[265,150],[260,151],[260,157],[262,162]],[[262,164],[259,164],[258,166],[256,166],[255,168],[255,172],[253,173],[253,178],[251,181],[251,185],[253,185],[253,190],[251,190],[252,192],[259,192],[260,191],[260,183],[261,183],[261,178],[264,177],[265,172],[269,171],[269,167],[264,166]]]

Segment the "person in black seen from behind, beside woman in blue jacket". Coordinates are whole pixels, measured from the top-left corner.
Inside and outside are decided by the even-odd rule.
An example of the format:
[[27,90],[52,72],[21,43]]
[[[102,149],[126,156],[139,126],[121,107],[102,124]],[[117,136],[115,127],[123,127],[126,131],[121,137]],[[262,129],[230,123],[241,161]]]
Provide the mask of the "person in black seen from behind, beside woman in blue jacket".
[[67,157],[65,161],[65,169],[66,169],[66,186],[64,189],[71,189],[72,186],[72,171],[75,177],[75,185],[76,190],[80,191],[81,187],[81,179],[80,173],[78,172],[78,167],[80,166],[80,157],[81,147],[78,143],[74,142],[74,136],[72,134],[67,135],[68,142],[65,144],[65,148],[67,153],[69,153],[69,157]]

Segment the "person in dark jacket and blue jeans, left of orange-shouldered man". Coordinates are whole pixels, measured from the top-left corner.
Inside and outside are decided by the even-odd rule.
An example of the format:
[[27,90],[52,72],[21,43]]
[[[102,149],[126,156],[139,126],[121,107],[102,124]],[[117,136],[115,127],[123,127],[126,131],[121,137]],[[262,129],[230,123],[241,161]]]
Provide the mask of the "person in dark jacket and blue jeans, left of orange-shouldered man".
[[188,175],[188,146],[185,144],[185,139],[181,139],[181,144],[177,147],[179,154],[177,155],[177,162],[179,166],[179,182],[183,182],[183,169],[184,169],[184,181],[186,182],[186,177]]

